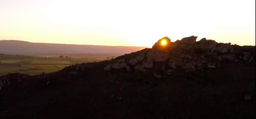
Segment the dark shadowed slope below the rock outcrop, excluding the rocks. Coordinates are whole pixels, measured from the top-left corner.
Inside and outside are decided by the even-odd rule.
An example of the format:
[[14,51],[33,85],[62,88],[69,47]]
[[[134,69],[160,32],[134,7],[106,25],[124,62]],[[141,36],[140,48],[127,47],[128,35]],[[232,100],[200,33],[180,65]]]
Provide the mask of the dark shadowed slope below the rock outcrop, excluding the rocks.
[[[177,70],[159,79],[150,72],[104,71],[109,62],[70,66],[21,82],[14,77],[0,91],[0,119],[255,118],[255,62]],[[71,74],[76,67],[82,68]],[[245,95],[252,99],[245,101]]]

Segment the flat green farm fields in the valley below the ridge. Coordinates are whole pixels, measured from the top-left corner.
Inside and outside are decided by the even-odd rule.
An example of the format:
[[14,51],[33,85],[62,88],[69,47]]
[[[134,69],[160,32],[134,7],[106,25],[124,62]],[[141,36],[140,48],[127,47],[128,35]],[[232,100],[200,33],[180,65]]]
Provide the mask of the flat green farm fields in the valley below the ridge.
[[[45,54],[44,54],[45,56]],[[47,56],[47,55],[46,55]],[[37,75],[40,73],[51,73],[63,69],[72,64],[81,64],[96,62],[109,59],[105,55],[74,55],[72,58],[60,58],[59,54],[50,55],[51,57],[42,56],[15,56],[2,55],[0,57],[0,75],[8,73],[25,73]]]

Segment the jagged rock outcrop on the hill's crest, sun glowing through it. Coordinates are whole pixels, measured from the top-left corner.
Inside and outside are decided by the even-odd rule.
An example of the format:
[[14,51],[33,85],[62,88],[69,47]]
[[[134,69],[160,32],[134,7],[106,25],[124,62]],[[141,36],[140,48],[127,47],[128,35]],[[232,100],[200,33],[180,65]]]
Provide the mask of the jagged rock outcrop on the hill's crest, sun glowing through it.
[[[250,63],[253,59],[255,60],[254,54],[236,51],[231,44],[217,43],[214,40],[206,40],[206,38],[200,41],[196,39],[197,37],[191,36],[171,42],[168,37],[161,38],[146,53],[132,58],[119,59],[118,62],[107,65],[104,70],[129,67],[129,71],[132,69],[146,72],[154,69],[170,74],[176,69],[190,72],[216,68],[222,62]],[[166,40],[166,45],[163,46],[161,40]],[[161,77],[156,73],[153,74],[157,78]]]

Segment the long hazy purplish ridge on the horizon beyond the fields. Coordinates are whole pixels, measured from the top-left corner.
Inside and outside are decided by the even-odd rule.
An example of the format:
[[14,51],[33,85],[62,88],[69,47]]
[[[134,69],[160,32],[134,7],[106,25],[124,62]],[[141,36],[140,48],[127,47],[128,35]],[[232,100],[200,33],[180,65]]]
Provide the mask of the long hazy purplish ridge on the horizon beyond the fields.
[[116,53],[124,54],[142,50],[136,46],[98,46],[78,44],[31,43],[19,40],[0,40],[0,53]]

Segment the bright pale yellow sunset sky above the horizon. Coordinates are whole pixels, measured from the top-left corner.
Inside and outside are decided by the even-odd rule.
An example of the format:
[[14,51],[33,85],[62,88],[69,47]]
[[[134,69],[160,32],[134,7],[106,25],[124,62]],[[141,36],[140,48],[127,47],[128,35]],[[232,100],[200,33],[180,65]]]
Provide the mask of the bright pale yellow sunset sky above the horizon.
[[255,0],[0,0],[0,40],[151,47],[191,35],[255,46]]

